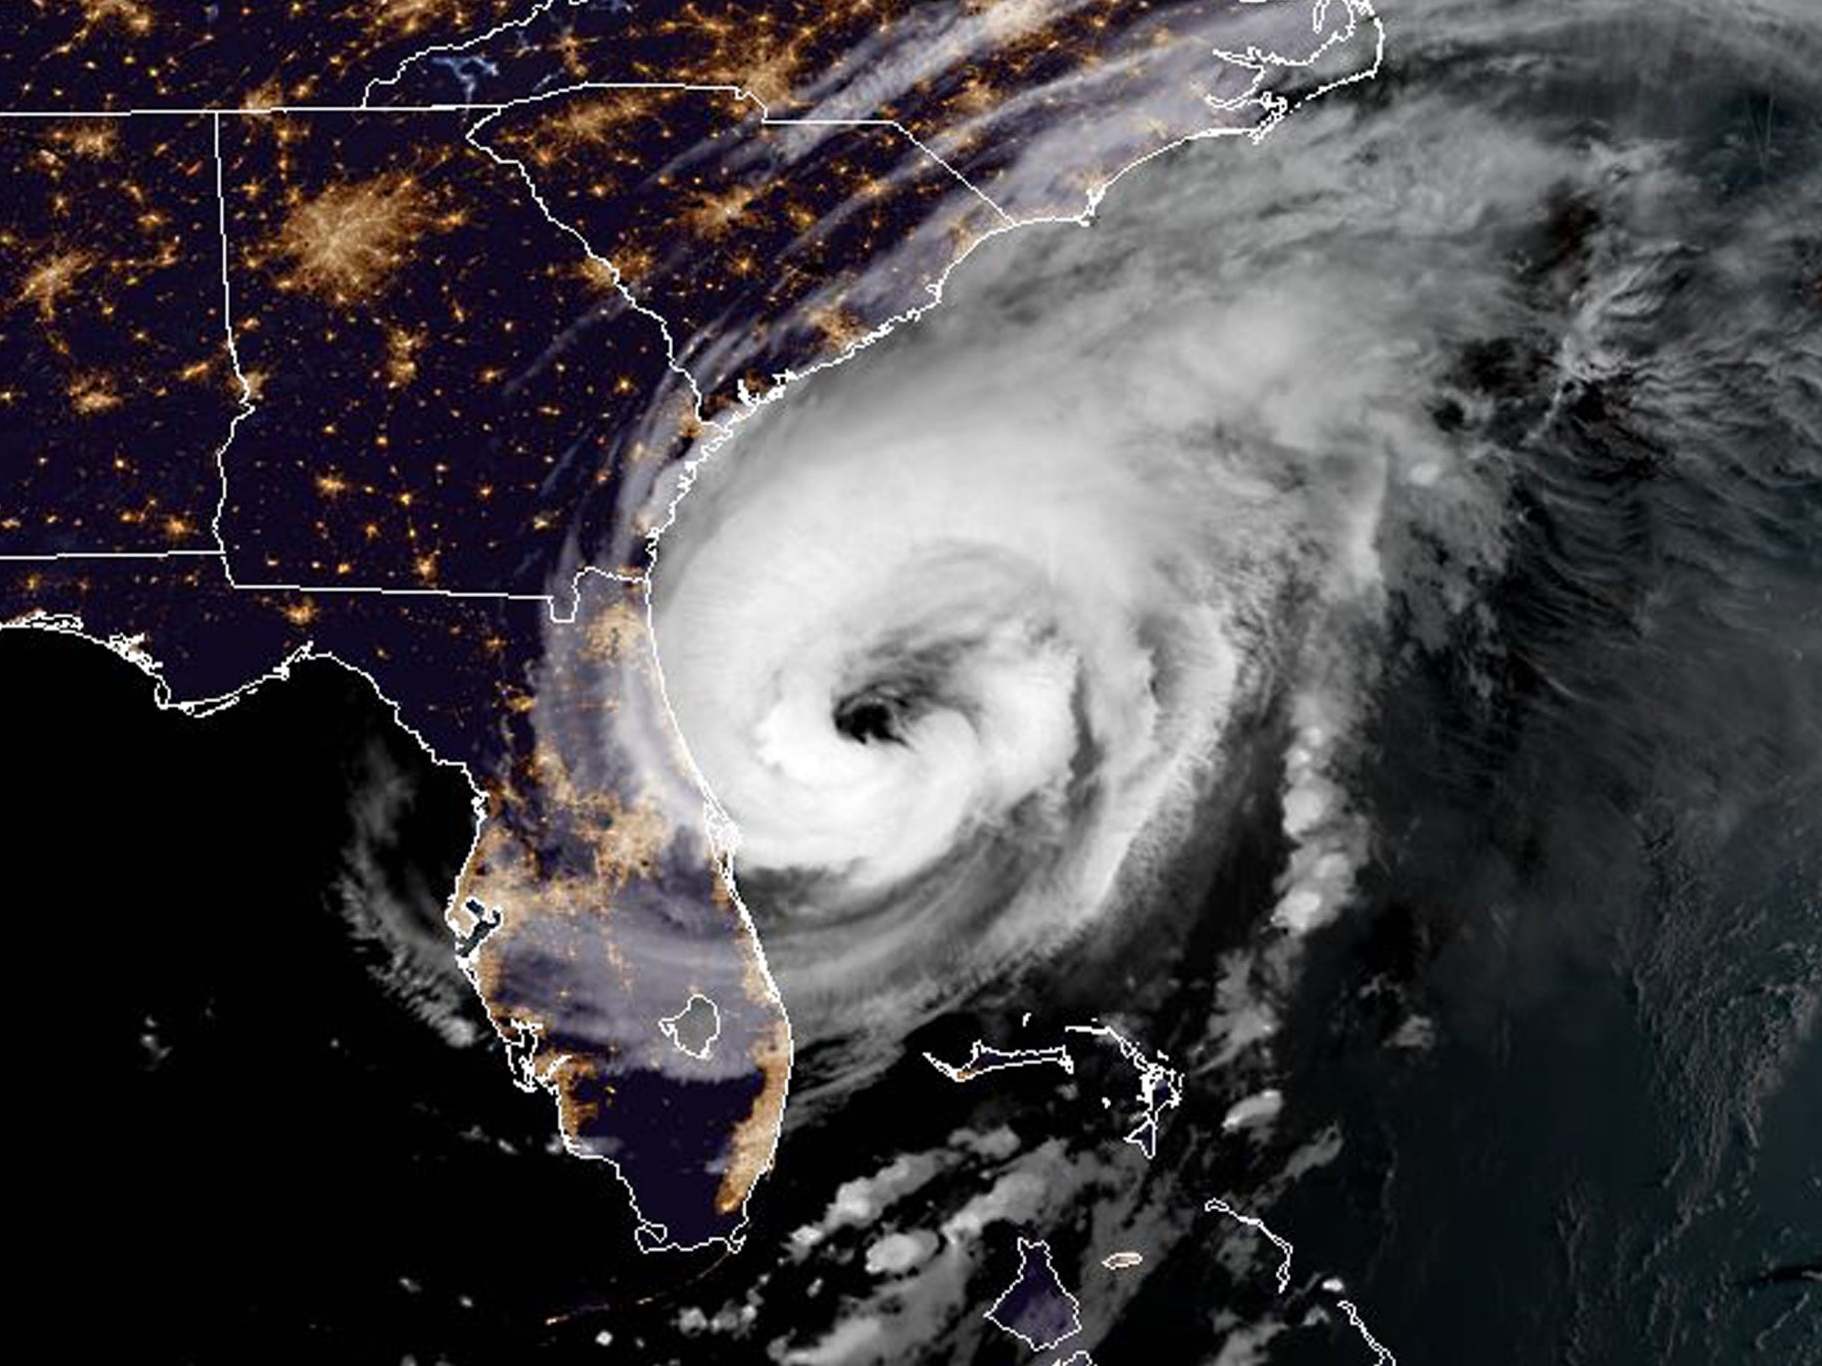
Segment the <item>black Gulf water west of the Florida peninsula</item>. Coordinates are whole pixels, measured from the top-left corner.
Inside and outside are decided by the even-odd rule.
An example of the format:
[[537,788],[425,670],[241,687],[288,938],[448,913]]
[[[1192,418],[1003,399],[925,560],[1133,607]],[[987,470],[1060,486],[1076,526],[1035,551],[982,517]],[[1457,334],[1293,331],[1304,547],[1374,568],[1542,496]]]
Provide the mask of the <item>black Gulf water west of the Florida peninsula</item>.
[[466,785],[363,679],[304,665],[195,721],[24,632],[0,676],[38,1116],[15,1288],[46,1331],[78,1357],[499,1361],[603,1268],[638,1277],[618,1189],[550,1151],[448,971],[425,889],[466,854]]

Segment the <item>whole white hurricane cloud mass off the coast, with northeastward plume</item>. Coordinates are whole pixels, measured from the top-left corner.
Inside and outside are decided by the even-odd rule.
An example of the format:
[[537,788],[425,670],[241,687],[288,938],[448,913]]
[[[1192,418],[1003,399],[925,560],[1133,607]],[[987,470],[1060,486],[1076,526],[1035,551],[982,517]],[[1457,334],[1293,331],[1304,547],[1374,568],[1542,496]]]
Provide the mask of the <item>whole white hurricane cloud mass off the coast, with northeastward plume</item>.
[[1463,488],[1396,339],[1474,304],[1162,177],[1131,199],[977,251],[698,461],[661,537],[669,701],[800,1044],[1117,918],[1219,838],[1197,812],[1268,712],[1279,918],[1348,892],[1388,488]]

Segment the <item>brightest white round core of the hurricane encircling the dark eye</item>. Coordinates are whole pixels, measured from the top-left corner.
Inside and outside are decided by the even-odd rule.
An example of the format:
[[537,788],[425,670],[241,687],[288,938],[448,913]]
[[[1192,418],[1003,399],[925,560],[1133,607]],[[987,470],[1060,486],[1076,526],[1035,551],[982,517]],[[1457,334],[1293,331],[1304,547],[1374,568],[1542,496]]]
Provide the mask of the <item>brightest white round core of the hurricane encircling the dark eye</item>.
[[[1039,403],[1033,379],[1015,382]],[[731,512],[678,557],[660,630],[747,869],[816,872],[847,900],[1008,821],[1044,838],[1130,809],[1170,690],[1193,678],[1219,707],[1230,688],[1221,605],[1157,607],[1193,568],[1182,517],[1110,470],[1091,408],[995,412],[995,384],[931,388],[906,424],[831,430],[805,406],[712,481]]]

